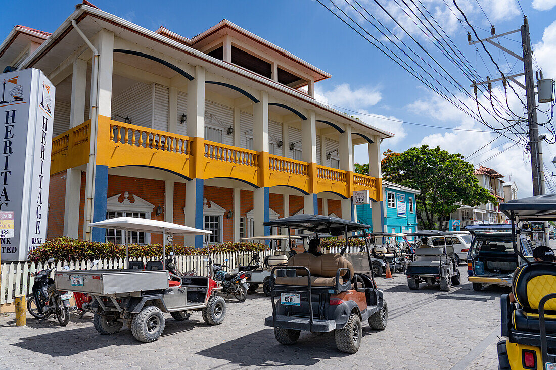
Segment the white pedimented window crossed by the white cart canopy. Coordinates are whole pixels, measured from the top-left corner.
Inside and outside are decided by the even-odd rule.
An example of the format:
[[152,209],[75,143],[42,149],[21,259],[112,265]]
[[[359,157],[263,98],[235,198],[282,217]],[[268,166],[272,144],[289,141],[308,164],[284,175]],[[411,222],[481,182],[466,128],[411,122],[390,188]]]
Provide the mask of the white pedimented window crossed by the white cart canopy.
[[[116,194],[106,200],[106,218],[116,217],[137,217],[151,218],[151,211],[155,206],[141,199],[136,195],[131,196],[128,192],[123,193],[123,201],[120,202],[122,193]],[[131,202],[133,201],[133,202]],[[106,229],[105,240],[115,244],[149,244],[151,242],[151,234],[145,232],[128,231],[127,240],[123,238],[121,230]]]

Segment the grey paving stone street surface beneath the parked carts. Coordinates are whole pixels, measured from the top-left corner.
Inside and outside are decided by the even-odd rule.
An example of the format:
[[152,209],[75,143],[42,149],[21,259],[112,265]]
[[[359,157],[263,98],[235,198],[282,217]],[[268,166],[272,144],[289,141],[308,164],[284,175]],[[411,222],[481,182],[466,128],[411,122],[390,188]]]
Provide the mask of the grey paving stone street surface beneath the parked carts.
[[[295,346],[282,346],[272,328],[270,299],[250,294],[244,303],[229,299],[225,322],[209,326],[195,312],[185,322],[166,316],[158,341],[140,343],[131,330],[101,336],[92,316],[71,318],[67,327],[54,319],[27,318],[16,327],[13,314],[0,317],[0,369],[235,369],[287,367],[330,369],[497,369],[495,343],[500,331],[500,296],[507,289],[474,292],[461,265],[462,283],[450,292],[438,285],[410,291],[403,274],[378,278],[388,302],[388,327],[364,326],[356,354],[338,352],[333,333],[302,333]],[[485,340],[486,339],[486,340]]]

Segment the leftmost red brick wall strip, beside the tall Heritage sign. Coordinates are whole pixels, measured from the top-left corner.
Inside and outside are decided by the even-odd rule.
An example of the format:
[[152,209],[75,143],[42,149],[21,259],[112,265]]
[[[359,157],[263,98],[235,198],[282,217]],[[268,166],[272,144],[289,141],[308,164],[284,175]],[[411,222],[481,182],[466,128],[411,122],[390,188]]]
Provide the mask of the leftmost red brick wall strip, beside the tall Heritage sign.
[[64,204],[66,203],[66,171],[50,176],[48,190],[47,238],[56,238],[64,234]]

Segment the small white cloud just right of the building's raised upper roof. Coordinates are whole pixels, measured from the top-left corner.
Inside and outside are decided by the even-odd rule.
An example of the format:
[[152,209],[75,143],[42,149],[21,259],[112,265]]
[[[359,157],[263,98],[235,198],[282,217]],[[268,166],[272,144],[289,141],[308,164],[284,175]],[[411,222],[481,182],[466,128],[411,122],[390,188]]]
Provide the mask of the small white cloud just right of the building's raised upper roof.
[[[335,106],[356,110],[357,108],[374,106],[380,102],[382,94],[376,87],[351,89],[348,83],[342,83],[329,91],[316,87],[315,99],[325,104],[334,104]],[[337,109],[341,110],[341,108]]]

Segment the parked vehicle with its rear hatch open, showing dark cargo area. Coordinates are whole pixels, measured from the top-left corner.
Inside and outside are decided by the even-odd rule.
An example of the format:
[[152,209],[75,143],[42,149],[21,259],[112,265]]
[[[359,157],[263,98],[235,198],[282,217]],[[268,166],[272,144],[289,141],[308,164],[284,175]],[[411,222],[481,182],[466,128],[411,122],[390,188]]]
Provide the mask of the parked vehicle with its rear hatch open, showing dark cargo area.
[[[515,269],[525,263],[512,246],[510,224],[470,225],[465,228],[473,235],[467,256],[468,280],[473,289],[480,291],[485,285],[512,286]],[[532,259],[533,250],[528,239],[520,234],[518,248]]]

